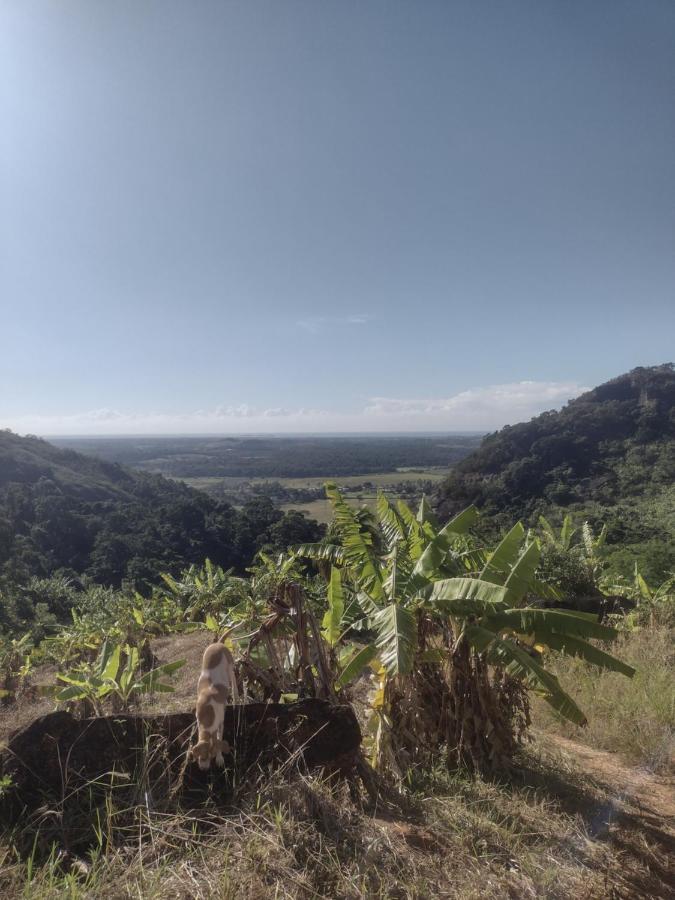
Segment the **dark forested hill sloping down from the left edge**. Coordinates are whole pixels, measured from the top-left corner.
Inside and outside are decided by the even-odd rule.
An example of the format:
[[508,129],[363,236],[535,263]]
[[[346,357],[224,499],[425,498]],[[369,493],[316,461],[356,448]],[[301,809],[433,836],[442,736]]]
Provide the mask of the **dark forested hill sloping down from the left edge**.
[[65,570],[142,586],[206,557],[243,570],[262,546],[319,533],[266,499],[237,510],[159,475],[0,431],[0,582]]

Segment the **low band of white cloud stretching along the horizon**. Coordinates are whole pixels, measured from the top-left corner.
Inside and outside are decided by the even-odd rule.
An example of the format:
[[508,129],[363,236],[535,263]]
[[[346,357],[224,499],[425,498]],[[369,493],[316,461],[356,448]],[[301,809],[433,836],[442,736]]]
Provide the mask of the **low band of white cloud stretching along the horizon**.
[[449,397],[372,397],[351,413],[246,403],[186,413],[127,413],[103,407],[64,416],[0,420],[20,434],[251,434],[292,432],[492,431],[562,406],[588,388],[575,381],[518,381]]

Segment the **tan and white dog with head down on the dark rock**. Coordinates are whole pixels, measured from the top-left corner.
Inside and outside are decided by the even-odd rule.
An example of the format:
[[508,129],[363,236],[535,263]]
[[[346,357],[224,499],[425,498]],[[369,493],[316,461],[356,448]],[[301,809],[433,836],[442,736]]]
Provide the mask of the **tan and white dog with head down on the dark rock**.
[[228,693],[233,702],[239,700],[234,659],[223,644],[209,644],[197,682],[197,743],[190,751],[200,769],[209,769],[213,758],[217,766],[225,765],[223,751],[230,751],[230,745],[222,740]]

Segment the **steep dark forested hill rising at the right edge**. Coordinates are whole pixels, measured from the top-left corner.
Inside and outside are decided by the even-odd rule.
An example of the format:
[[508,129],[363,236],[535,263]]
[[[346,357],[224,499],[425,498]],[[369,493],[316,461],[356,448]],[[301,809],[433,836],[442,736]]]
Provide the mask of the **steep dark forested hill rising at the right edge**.
[[530,523],[556,508],[578,510],[607,521],[617,544],[653,543],[663,569],[675,565],[674,483],[675,369],[666,364],[633,369],[559,412],[488,435],[438,500],[446,514],[476,503]]

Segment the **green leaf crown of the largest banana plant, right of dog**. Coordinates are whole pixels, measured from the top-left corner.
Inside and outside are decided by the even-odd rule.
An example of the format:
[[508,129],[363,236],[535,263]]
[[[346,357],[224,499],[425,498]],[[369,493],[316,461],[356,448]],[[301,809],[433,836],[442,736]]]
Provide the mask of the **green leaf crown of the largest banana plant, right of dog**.
[[[480,696],[487,691],[486,672],[497,669],[541,695],[560,715],[583,725],[584,713],[546,669],[546,654],[566,653],[629,677],[634,674],[630,666],[591,643],[611,642],[617,636],[615,629],[584,614],[531,605],[531,599],[555,597],[556,592],[537,580],[539,542],[520,523],[488,552],[468,536],[478,518],[474,507],[438,527],[426,501],[415,515],[404,502],[394,506],[381,495],[376,518],[366,529],[363,518],[345,503],[335,485],[328,484],[326,493],[334,511],[334,542],[304,545],[296,553],[331,561],[331,585],[338,584],[335,571],[339,570],[339,583],[355,595],[373,634],[366,647],[353,646],[343,657],[338,687],[366,666],[380,666],[390,682],[402,684],[402,679],[419,674],[436,659],[461,670],[464,694],[452,699],[457,715],[470,696],[472,710],[461,715],[480,719],[477,704],[489,707],[492,703]],[[334,603],[329,605],[326,621],[331,639],[347,624],[337,621]],[[434,633],[431,647],[426,638],[430,629]],[[439,636],[446,633],[451,639],[441,652]],[[450,677],[450,684],[459,691],[457,676]],[[382,715],[388,716],[391,705],[380,706]],[[484,730],[487,735],[481,733],[472,740],[485,744],[489,756],[491,730],[497,739],[497,728],[489,717]],[[461,742],[463,735],[462,726],[455,738]]]

